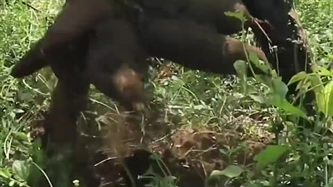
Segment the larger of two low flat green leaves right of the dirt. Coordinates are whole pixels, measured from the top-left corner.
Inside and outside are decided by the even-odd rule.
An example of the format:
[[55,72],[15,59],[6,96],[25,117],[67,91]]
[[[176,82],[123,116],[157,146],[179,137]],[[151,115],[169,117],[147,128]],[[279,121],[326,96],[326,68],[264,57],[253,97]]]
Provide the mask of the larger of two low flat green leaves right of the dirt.
[[266,168],[269,164],[275,163],[280,157],[289,150],[289,147],[284,145],[268,145],[254,158],[257,161],[255,169],[257,171]]

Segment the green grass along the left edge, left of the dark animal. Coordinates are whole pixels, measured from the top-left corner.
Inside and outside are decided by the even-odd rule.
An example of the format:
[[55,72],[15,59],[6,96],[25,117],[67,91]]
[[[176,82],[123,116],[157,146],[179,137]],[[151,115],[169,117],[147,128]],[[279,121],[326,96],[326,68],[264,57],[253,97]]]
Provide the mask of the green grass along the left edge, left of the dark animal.
[[27,186],[28,174],[35,170],[29,160],[38,162],[40,154],[28,124],[46,109],[52,85],[48,73],[24,81],[9,76],[10,67],[39,39],[60,8],[59,1],[26,2],[40,12],[21,1],[0,3],[0,186]]

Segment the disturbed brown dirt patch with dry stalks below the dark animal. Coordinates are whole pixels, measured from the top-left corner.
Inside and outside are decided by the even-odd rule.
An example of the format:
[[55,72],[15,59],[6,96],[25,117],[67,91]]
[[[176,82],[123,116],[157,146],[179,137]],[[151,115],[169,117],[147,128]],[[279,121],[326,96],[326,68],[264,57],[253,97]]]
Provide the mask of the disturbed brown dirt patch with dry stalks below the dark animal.
[[[273,140],[271,134],[247,134],[239,128],[177,128],[163,123],[159,114],[151,114],[144,121],[139,115],[116,112],[98,118],[95,114],[89,115],[92,117],[90,122],[85,118],[86,125],[80,126],[89,127],[81,127],[85,132],[82,137],[85,143],[90,144],[90,157],[94,157],[95,172],[101,178],[100,186],[131,186],[126,168],[133,175],[136,186],[144,186],[149,180],[136,178],[144,175],[149,166],[157,174],[155,177],[177,177],[180,187],[205,186],[205,179],[212,170],[223,170],[232,163],[248,166],[253,163],[255,154]],[[94,123],[92,119],[101,125],[100,130],[92,130],[92,124],[89,124]],[[92,137],[96,139],[97,136],[101,139],[92,141]],[[223,152],[228,149],[237,151],[227,157]],[[152,155],[160,158],[162,163]]]

